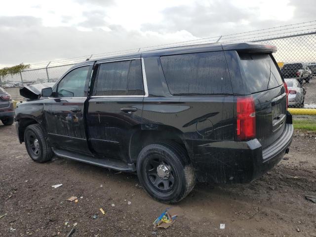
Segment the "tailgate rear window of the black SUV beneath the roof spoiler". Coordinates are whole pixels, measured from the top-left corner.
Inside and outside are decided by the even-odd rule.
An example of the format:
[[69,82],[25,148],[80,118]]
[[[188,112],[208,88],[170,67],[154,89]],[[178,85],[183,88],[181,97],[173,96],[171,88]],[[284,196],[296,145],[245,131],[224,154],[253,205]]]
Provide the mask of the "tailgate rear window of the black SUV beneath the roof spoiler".
[[283,84],[281,75],[270,54],[239,53],[239,57],[245,82],[251,93],[275,88]]

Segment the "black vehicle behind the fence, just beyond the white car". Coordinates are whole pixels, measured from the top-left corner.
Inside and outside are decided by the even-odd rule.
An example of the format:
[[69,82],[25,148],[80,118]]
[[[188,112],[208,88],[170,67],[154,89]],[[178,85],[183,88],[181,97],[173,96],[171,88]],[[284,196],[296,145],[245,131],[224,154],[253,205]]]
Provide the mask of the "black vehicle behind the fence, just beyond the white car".
[[305,80],[310,82],[309,68],[305,63],[287,63],[281,68],[281,73],[284,79],[296,78],[301,84]]

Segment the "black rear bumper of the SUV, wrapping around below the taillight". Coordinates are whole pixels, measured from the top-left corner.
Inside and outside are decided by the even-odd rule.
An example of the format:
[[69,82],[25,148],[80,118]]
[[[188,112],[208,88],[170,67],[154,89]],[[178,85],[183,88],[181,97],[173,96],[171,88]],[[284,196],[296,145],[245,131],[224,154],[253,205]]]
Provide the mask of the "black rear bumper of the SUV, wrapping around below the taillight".
[[262,149],[260,142],[187,141],[192,146],[190,158],[200,182],[249,183],[273,168],[288,151],[293,125],[285,124],[281,136]]

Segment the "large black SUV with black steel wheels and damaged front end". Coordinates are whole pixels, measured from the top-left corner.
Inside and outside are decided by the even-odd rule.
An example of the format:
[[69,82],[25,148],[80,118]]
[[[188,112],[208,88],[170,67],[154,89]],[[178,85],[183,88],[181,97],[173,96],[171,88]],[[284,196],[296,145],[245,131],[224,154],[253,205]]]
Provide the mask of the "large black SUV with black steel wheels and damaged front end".
[[293,136],[275,51],[201,44],[77,64],[18,106],[19,140],[37,162],[54,153],[137,171],[163,202],[180,201],[196,180],[250,182]]

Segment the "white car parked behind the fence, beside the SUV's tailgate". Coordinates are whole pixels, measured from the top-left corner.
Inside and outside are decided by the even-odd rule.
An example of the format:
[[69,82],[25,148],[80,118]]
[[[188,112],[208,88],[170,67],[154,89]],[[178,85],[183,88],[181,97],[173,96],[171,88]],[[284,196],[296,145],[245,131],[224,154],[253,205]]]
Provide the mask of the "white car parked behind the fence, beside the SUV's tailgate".
[[293,107],[304,107],[305,88],[297,79],[284,79],[288,90],[288,105]]

